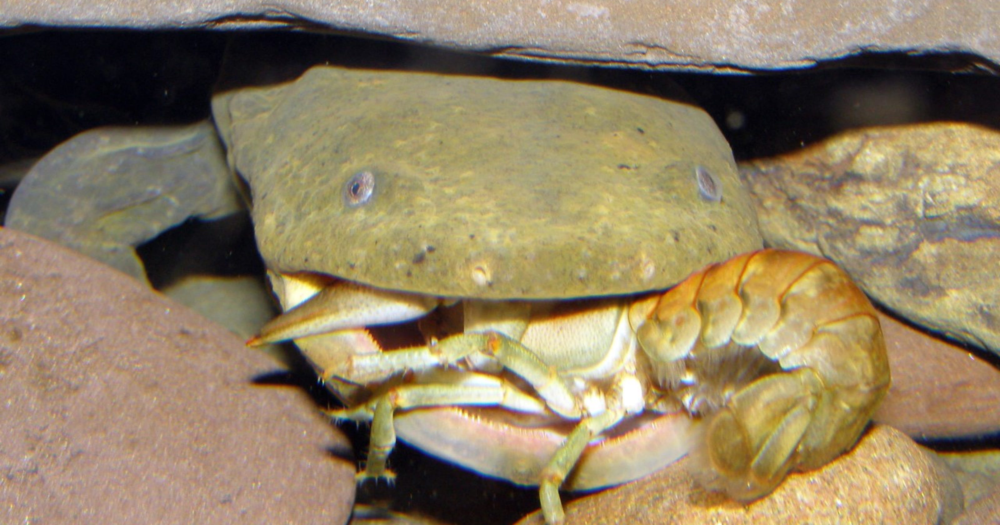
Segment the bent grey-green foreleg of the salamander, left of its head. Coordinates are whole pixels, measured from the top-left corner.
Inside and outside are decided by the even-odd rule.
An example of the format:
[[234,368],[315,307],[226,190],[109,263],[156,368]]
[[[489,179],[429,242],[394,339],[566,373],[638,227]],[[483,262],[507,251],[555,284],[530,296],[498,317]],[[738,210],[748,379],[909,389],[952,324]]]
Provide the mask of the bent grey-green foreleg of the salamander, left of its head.
[[31,168],[4,225],[145,281],[134,247],[189,217],[239,210],[230,180],[210,122],[98,128],[60,144]]

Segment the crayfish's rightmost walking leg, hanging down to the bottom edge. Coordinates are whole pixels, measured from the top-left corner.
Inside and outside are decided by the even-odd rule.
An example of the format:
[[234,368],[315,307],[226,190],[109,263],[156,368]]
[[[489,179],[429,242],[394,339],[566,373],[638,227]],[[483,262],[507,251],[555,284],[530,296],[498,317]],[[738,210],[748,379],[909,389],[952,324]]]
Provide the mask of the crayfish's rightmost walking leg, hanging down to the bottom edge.
[[580,456],[583,455],[590,440],[618,424],[624,417],[624,410],[608,410],[593,417],[583,418],[556,450],[555,455],[542,470],[538,488],[545,523],[559,525],[565,521],[566,514],[559,498],[559,487],[580,461]]

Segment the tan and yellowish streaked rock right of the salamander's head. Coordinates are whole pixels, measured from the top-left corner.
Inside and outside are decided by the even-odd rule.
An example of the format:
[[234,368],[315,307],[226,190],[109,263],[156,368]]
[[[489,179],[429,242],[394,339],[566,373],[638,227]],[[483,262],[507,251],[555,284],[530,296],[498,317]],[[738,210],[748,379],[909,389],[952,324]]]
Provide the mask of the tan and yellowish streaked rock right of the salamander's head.
[[765,241],[840,264],[876,302],[1000,353],[1000,132],[847,132],[744,164]]

